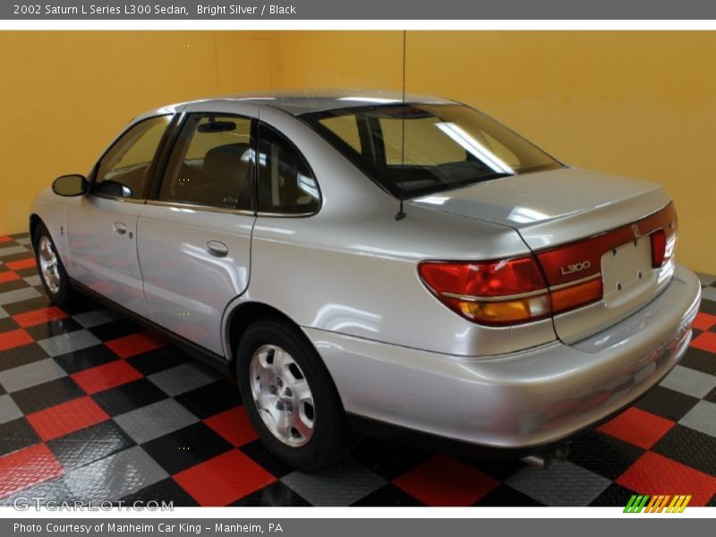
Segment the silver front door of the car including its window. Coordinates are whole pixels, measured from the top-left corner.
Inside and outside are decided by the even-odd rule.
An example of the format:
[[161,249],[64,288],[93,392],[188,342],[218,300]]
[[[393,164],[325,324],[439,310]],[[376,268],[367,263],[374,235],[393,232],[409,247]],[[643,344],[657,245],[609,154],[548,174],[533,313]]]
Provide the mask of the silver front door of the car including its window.
[[137,217],[171,120],[172,115],[159,115],[133,124],[100,158],[90,193],[67,211],[75,279],[145,317]]

